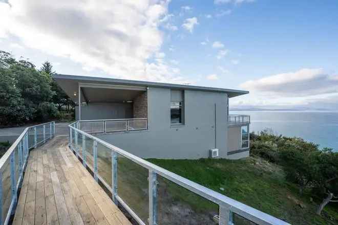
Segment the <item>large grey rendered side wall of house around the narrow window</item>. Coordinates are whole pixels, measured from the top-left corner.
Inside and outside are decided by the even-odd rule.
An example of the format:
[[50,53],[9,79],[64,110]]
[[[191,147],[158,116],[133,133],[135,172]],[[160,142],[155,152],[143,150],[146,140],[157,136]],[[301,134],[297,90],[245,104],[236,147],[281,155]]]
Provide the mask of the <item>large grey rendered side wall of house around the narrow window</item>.
[[215,147],[221,158],[227,158],[227,94],[185,90],[185,121],[179,126],[170,124],[171,89],[151,87],[147,102],[149,130],[97,134],[98,138],[142,158],[208,158]]

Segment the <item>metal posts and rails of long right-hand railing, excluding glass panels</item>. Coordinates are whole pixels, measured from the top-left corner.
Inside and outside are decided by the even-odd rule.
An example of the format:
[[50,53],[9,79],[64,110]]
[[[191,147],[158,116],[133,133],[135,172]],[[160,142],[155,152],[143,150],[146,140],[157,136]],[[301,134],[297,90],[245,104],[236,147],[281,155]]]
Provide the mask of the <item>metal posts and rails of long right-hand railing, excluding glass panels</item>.
[[[231,221],[231,215],[232,213],[236,213],[252,222],[255,222],[257,224],[281,224],[281,225],[286,225],[289,224],[285,221],[282,221],[276,217],[273,217],[271,215],[268,215],[266,213],[263,213],[259,210],[256,210],[252,207],[249,207],[245,204],[242,204],[241,202],[234,200],[232,198],[229,198],[225,195],[222,195],[216,191],[213,191],[209,188],[206,188],[202,185],[199,185],[193,181],[190,181],[189,179],[186,179],[178,174],[175,174],[173,172],[170,172],[162,167],[159,167],[155,164],[152,164],[146,160],[143,160],[141,158],[139,158],[136,155],[133,155],[125,150],[122,150],[112,144],[109,144],[97,137],[92,136],[91,134],[82,131],[74,126],[76,126],[76,124],[80,122],[80,121],[76,121],[72,124],[69,125],[69,129],[70,129],[70,143],[69,146],[70,148],[75,152],[75,154],[81,158],[81,156],[78,154],[78,150],[77,150],[77,146],[75,146],[75,148],[73,147],[73,143],[72,143],[72,135],[73,135],[73,131],[74,131],[74,135],[75,135],[75,142],[77,144],[77,137],[78,134],[80,133],[82,138],[83,136],[92,139],[94,141],[94,146],[97,146],[97,143],[100,143],[101,145],[109,148],[112,150],[112,164],[114,164],[114,159],[113,159],[113,155],[115,155],[115,153],[118,153],[122,156],[124,156],[125,158],[133,161],[134,163],[142,166],[143,168],[146,168],[147,170],[149,170],[149,224],[156,224],[156,193],[157,193],[157,189],[156,189],[156,182],[154,182],[154,177],[155,177],[155,181],[156,181],[156,175],[160,175],[172,182],[174,182],[175,184],[188,189],[189,191],[192,191],[212,202],[214,202],[215,204],[219,205],[219,224],[232,224]],[[97,150],[95,152],[95,147],[93,146],[93,157],[94,157],[94,169],[91,168],[93,170],[94,173],[94,177],[96,179],[96,181],[100,180],[101,183],[108,188],[109,191],[112,192],[112,198],[114,200],[114,202],[117,203],[117,201],[120,202],[120,204],[122,206],[124,206],[124,208],[130,212],[130,214],[140,223],[140,224],[145,224],[144,221],[142,221],[137,215],[136,213],[128,206],[126,205],[126,203],[123,201],[123,199],[118,195],[116,189],[117,187],[115,187],[114,185],[117,184],[112,184],[112,188],[109,187],[109,185],[107,185],[107,183],[104,181],[103,178],[101,178],[98,175],[97,172],[97,163],[95,165],[95,158],[97,161]],[[83,145],[82,143],[82,148],[85,147],[85,145]],[[97,149],[97,147],[96,147]],[[86,155],[86,149],[82,149],[82,154],[83,152]],[[86,156],[85,156],[86,158]],[[83,161],[83,159],[82,159]],[[83,161],[85,166],[89,166],[86,164],[86,161]],[[113,168],[113,166],[112,166]],[[117,176],[117,168],[116,169],[112,169],[112,177],[114,177],[115,175]],[[114,179],[112,178],[112,182],[114,183]],[[155,200],[154,200],[155,199]]]

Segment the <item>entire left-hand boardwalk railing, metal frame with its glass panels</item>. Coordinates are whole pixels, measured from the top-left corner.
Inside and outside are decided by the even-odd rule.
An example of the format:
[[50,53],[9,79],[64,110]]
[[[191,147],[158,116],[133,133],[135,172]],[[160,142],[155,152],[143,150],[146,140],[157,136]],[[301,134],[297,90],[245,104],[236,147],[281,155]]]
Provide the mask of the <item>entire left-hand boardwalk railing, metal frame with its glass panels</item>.
[[54,121],[27,127],[0,159],[0,224],[8,224],[15,213],[29,149],[44,144],[54,135]]

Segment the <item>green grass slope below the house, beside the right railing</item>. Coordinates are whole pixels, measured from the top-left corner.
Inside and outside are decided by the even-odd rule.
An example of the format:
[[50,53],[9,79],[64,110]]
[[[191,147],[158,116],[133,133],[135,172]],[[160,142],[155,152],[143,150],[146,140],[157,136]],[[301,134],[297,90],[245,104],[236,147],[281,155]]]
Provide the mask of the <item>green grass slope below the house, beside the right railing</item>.
[[[285,180],[283,169],[266,161],[256,158],[149,161],[291,224],[338,223],[337,204],[328,205],[323,216],[316,215],[318,202],[311,201],[309,193],[300,196],[298,187]],[[170,185],[173,186],[167,184]],[[177,188],[168,190],[176,201],[185,202],[195,211],[213,209],[213,204],[205,199],[196,200],[193,194]]]

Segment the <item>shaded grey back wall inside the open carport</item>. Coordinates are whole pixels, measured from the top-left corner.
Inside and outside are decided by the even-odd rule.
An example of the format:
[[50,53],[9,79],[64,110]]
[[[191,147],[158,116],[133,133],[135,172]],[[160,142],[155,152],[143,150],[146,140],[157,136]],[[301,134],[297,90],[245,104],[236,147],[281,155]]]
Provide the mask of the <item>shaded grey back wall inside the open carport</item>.
[[[78,107],[75,107],[78,120]],[[133,118],[133,103],[89,103],[81,106],[81,120],[130,119]]]

